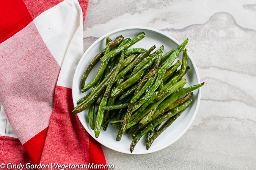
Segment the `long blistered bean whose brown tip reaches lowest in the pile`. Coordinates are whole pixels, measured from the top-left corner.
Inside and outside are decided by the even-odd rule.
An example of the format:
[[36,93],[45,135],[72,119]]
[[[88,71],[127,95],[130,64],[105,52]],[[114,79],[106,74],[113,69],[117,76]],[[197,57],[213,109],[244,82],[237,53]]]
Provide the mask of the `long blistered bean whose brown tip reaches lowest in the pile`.
[[171,112],[164,114],[163,116],[160,116],[158,119],[150,122],[143,130],[140,131],[140,133],[138,133],[132,140],[132,143],[130,144],[130,152],[132,152],[134,150],[135,145],[138,143],[138,141],[140,140],[140,138],[147,133],[148,131],[150,131],[152,128],[156,127],[158,124],[166,121],[167,119],[169,119],[170,117],[174,116],[175,114],[177,114],[178,112],[184,110],[185,108],[188,107],[188,105],[192,102],[193,100],[187,100],[187,102],[183,103],[181,106],[173,109]]

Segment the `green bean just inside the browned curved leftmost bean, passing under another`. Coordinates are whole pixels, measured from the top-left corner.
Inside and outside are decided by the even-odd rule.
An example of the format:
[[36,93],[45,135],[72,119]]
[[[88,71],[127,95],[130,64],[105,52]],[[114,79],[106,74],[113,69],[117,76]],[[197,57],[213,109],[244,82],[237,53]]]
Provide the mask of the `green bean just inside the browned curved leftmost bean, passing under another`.
[[[109,53],[110,43],[111,43],[111,39],[109,37],[107,37],[105,55]],[[107,68],[107,63],[108,63],[107,60],[105,60],[104,62],[101,63],[101,66],[100,66],[96,76],[93,78],[93,80],[91,80],[90,83],[88,83],[87,85],[85,85],[85,87],[83,87],[83,89],[81,90],[82,93],[89,90],[91,87],[93,87],[97,83],[97,81],[101,78],[102,74],[104,74],[104,71]]]

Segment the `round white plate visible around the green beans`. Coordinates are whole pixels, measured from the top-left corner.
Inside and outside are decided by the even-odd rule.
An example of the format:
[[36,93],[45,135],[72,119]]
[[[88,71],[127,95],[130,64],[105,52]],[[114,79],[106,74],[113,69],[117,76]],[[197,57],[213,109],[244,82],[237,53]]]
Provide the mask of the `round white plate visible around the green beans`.
[[[85,96],[86,93],[80,92],[80,80],[82,78],[82,74],[85,70],[85,68],[88,66],[90,61],[93,59],[96,54],[102,51],[102,49],[105,48],[105,38],[110,37],[112,40],[115,40],[118,36],[124,36],[124,38],[131,38],[133,39],[136,37],[139,33],[144,32],[146,36],[144,39],[142,39],[140,42],[136,43],[135,45],[131,46],[130,48],[135,47],[141,47],[145,49],[149,49],[151,46],[155,45],[155,50],[159,49],[161,45],[164,45],[164,53],[167,51],[170,51],[171,49],[177,48],[178,45],[180,45],[177,40],[175,40],[173,37],[169,36],[168,34],[165,34],[161,31],[158,31],[156,29],[152,28],[146,28],[146,27],[127,27],[127,28],[121,28],[117,29],[115,31],[109,32],[96,40],[83,54],[82,58],[80,59],[80,62],[77,65],[77,68],[75,70],[74,74],[74,80],[73,80],[73,87],[72,87],[72,96],[74,105],[77,106],[76,102],[81,97]],[[163,54],[164,54],[163,53]],[[177,57],[180,61],[182,60],[182,53],[180,53]],[[191,85],[199,84],[199,74],[196,69],[196,65],[193,62],[192,58],[188,54],[188,62],[187,65],[189,65],[191,68],[188,71],[188,73],[184,76],[184,78],[187,80],[187,84],[185,84],[184,87],[189,87]],[[95,74],[97,73],[97,69],[99,68],[99,63],[93,68],[91,73],[89,74],[86,83],[90,82]],[[151,153],[158,150],[161,150],[171,144],[173,142],[177,141],[184,133],[187,131],[187,129],[192,124],[196,112],[199,107],[199,101],[200,101],[201,92],[200,89],[193,91],[193,99],[195,100],[193,104],[190,105],[182,114],[179,116],[176,121],[174,121],[173,124],[171,124],[170,127],[168,127],[160,136],[155,139],[154,143],[151,145],[149,150],[146,150],[146,143],[145,138],[140,139],[138,144],[135,146],[135,149],[132,153],[130,153],[129,147],[132,142],[132,138],[128,134],[124,134],[122,136],[122,139],[120,142],[116,141],[116,135],[118,133],[118,130],[115,126],[109,125],[107,131],[101,130],[101,133],[99,135],[99,138],[95,138],[94,131],[91,130],[88,122],[88,108],[79,113],[78,117],[81,121],[83,127],[85,127],[86,131],[94,138],[96,141],[104,145],[105,147],[108,147],[112,150],[119,151],[122,153],[128,153],[128,154],[145,154],[145,153]]]

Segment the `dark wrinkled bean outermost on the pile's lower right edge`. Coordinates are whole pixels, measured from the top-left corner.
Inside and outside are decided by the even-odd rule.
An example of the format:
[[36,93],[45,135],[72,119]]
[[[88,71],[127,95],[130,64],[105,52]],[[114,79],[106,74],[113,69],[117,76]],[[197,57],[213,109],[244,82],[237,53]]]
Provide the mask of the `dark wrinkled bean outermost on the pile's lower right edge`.
[[[184,109],[185,110],[185,109]],[[180,111],[179,113],[177,113],[175,116],[170,117],[168,119],[168,121],[165,122],[165,124],[163,124],[163,126],[157,130],[152,136],[151,138],[148,140],[147,144],[146,144],[146,149],[149,150],[149,148],[151,147],[152,143],[154,142],[154,140],[161,134],[163,133],[163,131],[166,130],[166,128],[168,128],[180,115],[181,113],[184,111]]]

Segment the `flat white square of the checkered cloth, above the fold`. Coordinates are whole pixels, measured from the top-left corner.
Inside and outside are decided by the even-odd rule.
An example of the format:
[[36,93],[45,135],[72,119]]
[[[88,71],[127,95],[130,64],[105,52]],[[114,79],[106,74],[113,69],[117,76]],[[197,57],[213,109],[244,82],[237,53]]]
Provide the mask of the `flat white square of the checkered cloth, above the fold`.
[[[81,29],[82,9],[77,0],[64,0],[40,14],[34,23],[57,63],[62,66],[69,44]],[[78,37],[78,36],[77,36]],[[83,28],[82,36],[83,39]]]

